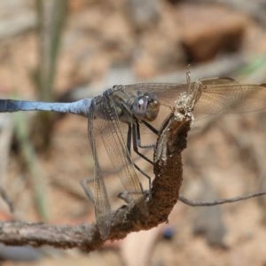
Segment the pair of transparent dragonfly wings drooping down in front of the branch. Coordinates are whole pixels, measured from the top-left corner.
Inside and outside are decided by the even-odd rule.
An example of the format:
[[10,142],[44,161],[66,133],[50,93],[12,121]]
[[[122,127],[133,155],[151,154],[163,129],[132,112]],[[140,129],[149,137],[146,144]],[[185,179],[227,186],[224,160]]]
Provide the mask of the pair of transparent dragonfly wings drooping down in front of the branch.
[[[128,200],[136,203],[144,202],[144,195],[137,177],[137,172],[129,156],[125,140],[121,134],[120,122],[118,121],[117,114],[113,109],[110,99],[107,97],[101,98],[97,104],[97,109],[100,109],[103,118],[97,117],[97,119],[94,119],[94,115],[90,114],[89,137],[95,159],[96,219],[101,235],[106,236],[110,229],[112,217],[110,202],[106,192],[106,184],[104,182],[105,176],[102,171],[105,168],[106,161],[98,157],[98,145],[103,144],[105,146],[106,153],[115,173],[120,177],[124,189],[129,192]],[[95,142],[96,138],[98,139],[98,143]],[[145,208],[144,204],[138,206]],[[142,210],[145,212],[145,209]]]

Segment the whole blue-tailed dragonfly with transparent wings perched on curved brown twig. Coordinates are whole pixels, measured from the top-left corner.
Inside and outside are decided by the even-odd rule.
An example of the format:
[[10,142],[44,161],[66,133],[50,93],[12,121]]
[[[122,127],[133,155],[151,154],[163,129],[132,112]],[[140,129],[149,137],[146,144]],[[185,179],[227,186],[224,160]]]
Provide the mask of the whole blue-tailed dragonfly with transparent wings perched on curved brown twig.
[[[100,137],[105,145],[121,184],[129,192],[129,201],[146,213],[147,197],[138,178],[139,173],[145,175],[145,171],[132,160],[131,149],[133,147],[134,153],[153,164],[153,160],[140,152],[141,148],[154,148],[154,145],[142,145],[142,132],[147,130],[154,135],[158,134],[160,125],[184,95],[192,95],[194,98],[195,120],[212,114],[246,113],[266,108],[265,84],[240,84],[231,78],[191,82],[187,74],[187,82],[184,84],[149,82],[114,85],[94,98],[83,98],[71,103],[0,99],[0,112],[52,111],[74,113],[88,119],[89,142],[95,161],[95,215],[101,239],[106,239],[113,216],[96,137]],[[127,134],[123,137],[125,131]]]

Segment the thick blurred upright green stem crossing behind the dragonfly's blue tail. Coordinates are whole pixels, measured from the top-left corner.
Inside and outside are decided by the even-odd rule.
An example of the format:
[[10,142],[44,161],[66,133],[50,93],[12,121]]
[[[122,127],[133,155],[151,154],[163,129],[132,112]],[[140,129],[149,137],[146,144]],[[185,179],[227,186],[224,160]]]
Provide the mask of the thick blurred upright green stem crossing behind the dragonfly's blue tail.
[[[53,101],[53,85],[57,73],[59,46],[67,14],[66,0],[35,0],[39,63],[35,70],[35,88],[39,100]],[[37,113],[35,133],[42,132],[39,143],[42,148],[50,144],[53,113]]]

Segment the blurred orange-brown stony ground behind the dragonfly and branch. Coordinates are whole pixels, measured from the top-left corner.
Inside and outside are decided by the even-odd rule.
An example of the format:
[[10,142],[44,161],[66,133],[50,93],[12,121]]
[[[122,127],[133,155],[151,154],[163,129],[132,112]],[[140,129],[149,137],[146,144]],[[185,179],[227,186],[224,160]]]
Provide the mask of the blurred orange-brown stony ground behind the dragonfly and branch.
[[[207,66],[216,62],[217,75],[237,76],[240,82],[266,82],[265,64],[254,67],[263,61],[266,51],[263,1],[153,0],[145,4],[137,0],[73,0],[69,5],[54,86],[59,99],[95,95],[98,88],[105,90],[114,83],[153,81],[162,74],[177,77],[182,73],[185,78],[188,63],[202,66],[197,68],[199,76],[192,72],[195,78],[211,76]],[[0,95],[8,98],[15,93],[34,99],[32,73],[38,59],[34,2],[1,3],[0,20]],[[224,58],[229,59],[227,73],[219,72],[219,60]],[[246,58],[250,60],[243,67]],[[176,82],[180,81],[176,78]],[[14,201],[15,217],[40,221],[32,179],[19,145],[11,138],[13,115],[3,117],[1,114],[3,121],[11,123],[2,121],[2,185]],[[263,120],[260,112],[195,121],[184,151],[182,194],[192,200],[213,200],[266,189]],[[35,126],[31,123],[28,121],[28,128]],[[93,207],[79,185],[82,178],[93,175],[87,121],[71,115],[60,117],[52,129],[50,147],[38,151],[36,158],[48,200],[49,223],[93,221]],[[120,206],[116,178],[106,182]],[[0,207],[3,219],[11,216],[4,200]],[[45,247],[43,258],[32,265],[265,265],[265,221],[263,199],[221,207],[177,203],[168,224],[153,231],[131,234],[90,254]],[[170,239],[163,237],[166,231],[170,231]]]

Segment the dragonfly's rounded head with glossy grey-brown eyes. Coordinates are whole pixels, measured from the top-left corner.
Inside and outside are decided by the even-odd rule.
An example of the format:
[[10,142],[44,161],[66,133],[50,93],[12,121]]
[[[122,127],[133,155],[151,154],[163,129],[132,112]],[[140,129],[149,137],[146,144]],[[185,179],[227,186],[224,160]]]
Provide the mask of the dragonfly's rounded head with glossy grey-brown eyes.
[[132,113],[138,120],[153,121],[160,111],[160,103],[152,92],[139,95],[132,105]]

